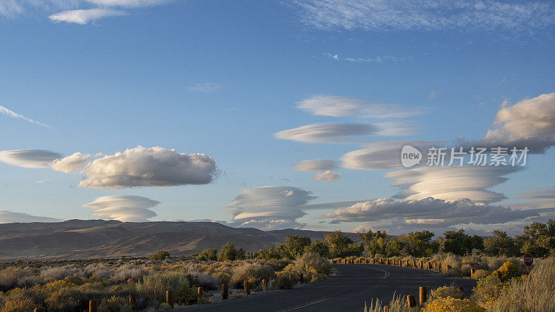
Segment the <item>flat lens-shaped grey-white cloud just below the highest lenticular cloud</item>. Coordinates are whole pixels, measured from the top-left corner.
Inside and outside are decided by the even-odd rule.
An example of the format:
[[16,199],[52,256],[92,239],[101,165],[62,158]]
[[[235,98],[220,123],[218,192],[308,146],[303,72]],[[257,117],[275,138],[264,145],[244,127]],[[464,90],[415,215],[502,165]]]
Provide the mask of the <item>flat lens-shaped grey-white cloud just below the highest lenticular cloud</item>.
[[374,125],[362,123],[314,123],[274,134],[278,139],[307,143],[341,143],[349,137],[379,135]]

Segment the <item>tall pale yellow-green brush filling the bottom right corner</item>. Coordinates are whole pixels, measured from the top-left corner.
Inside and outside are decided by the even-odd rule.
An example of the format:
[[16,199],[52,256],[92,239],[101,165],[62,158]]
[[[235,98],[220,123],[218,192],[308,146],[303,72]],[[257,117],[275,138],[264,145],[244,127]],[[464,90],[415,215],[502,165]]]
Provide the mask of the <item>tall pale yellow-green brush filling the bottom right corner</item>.
[[555,259],[549,258],[526,278],[512,279],[504,288],[495,311],[555,311]]

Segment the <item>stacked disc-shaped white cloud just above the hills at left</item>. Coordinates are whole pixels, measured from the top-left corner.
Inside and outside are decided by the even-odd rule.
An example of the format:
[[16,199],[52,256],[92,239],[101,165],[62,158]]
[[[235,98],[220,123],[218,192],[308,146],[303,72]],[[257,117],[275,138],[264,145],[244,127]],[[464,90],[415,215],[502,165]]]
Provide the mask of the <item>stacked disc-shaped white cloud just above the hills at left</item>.
[[156,200],[142,196],[103,196],[83,205],[95,209],[92,214],[100,218],[121,222],[147,222],[156,213],[149,208],[160,204]]

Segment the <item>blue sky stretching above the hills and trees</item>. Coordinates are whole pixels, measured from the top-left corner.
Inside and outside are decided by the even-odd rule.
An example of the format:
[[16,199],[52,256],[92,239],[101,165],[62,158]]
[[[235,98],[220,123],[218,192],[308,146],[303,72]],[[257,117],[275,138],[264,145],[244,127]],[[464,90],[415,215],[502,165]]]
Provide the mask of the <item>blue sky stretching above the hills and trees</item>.
[[[9,159],[0,163],[0,209],[5,210],[0,221],[49,220],[33,216],[209,219],[263,229],[359,227],[395,233],[449,227],[516,231],[532,220],[545,220],[555,207],[555,100],[549,96],[555,92],[555,4],[442,3],[58,0],[37,5],[0,0],[0,105],[38,122],[0,114],[0,150],[29,150],[33,161],[42,155],[39,150],[59,153],[59,159],[90,155],[78,159],[78,169],[56,171],[51,164],[24,168],[21,155],[4,153]],[[354,101],[366,109],[329,116],[298,107],[311,99],[314,105]],[[514,209],[544,211],[506,220],[448,214],[427,223],[430,216],[419,210],[424,202],[375,202],[402,190],[385,177],[397,169],[362,170],[341,161],[354,150],[375,149],[377,142],[449,145],[462,136],[484,143],[488,130],[502,127],[493,124],[498,112],[513,105],[519,111],[503,115],[512,136],[501,135],[506,141],[493,143],[541,141],[543,150],[531,153],[527,166],[513,173],[464,173],[462,180],[474,174],[468,181],[483,182],[479,191],[505,198],[468,198],[470,203],[450,209],[463,207],[472,215],[479,203],[491,211],[511,207],[503,212],[507,215],[516,215]],[[406,114],[379,116],[382,110]],[[331,132],[336,128],[330,130],[330,124],[347,132],[353,124],[366,128],[339,140],[325,135],[320,141],[302,139],[305,132],[300,134],[304,141],[291,139],[289,132],[281,139],[275,135],[314,124]],[[515,133],[524,132],[515,139]],[[153,156],[153,163],[143,164],[143,159],[129,166],[151,166],[165,182],[145,178],[126,184],[121,182],[126,176],[117,185],[102,180],[106,177],[92,167],[84,169],[94,159],[128,149],[143,155],[156,146],[170,158],[205,154],[216,168],[206,159],[203,168],[182,168]],[[307,159],[329,159],[336,166],[293,170]],[[114,164],[102,166],[98,162],[94,168],[103,171]],[[314,180],[327,169],[333,171],[331,182]],[[189,174],[198,177],[192,184]],[[268,186],[274,188],[260,189]],[[454,200],[434,191],[429,195]],[[543,201],[528,205],[537,200]],[[357,208],[364,202],[370,208]],[[519,206],[522,202],[528,204]],[[398,214],[379,214],[376,207]],[[128,215],[126,209],[139,212]],[[157,216],[144,214],[148,209]],[[350,209],[350,216],[338,209]]]

